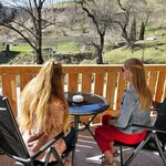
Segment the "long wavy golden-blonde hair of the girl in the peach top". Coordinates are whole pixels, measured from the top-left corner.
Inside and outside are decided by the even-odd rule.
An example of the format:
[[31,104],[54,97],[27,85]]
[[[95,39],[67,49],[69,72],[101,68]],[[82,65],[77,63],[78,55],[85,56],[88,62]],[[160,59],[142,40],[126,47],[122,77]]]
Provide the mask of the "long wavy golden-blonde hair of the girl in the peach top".
[[52,96],[63,101],[65,114],[63,132],[69,127],[69,106],[64,98],[63,69],[53,60],[48,61],[21,92],[21,117],[19,120],[22,129],[35,127],[37,131],[50,134],[52,125],[49,125],[49,104]]

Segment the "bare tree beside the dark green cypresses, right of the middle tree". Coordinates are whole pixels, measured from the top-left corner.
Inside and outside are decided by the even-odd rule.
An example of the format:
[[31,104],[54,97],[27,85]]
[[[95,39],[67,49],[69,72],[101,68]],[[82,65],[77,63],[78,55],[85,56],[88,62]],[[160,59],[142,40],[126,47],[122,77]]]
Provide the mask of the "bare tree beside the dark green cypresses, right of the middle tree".
[[[127,42],[127,46],[133,49],[135,45],[136,20],[142,22],[146,19],[148,21],[149,12],[147,14],[147,11],[149,10],[147,10],[147,2],[146,0],[117,0],[117,4],[120,10],[116,13],[114,23],[121,28],[122,37]],[[129,30],[132,30],[132,35]]]

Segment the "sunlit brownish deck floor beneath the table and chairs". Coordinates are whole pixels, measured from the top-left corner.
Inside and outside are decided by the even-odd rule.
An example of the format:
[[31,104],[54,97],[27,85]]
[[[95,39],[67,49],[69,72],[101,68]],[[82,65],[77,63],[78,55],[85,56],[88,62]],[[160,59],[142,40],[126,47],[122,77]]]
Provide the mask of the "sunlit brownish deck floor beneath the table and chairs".
[[[132,149],[124,149],[124,158],[126,159]],[[76,144],[75,166],[106,166],[98,162],[101,152],[95,141],[86,133],[81,132]],[[115,166],[120,166],[120,158],[116,158]],[[13,159],[1,155],[0,166],[20,166]],[[141,152],[129,166],[164,166],[162,158],[156,153],[146,151]]]

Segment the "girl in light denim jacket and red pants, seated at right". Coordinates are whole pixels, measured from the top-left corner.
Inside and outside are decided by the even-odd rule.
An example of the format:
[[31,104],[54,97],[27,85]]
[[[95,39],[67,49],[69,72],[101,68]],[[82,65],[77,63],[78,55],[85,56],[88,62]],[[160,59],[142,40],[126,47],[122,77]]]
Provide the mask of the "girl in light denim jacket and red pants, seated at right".
[[129,82],[129,87],[124,94],[121,114],[114,120],[110,115],[103,116],[103,125],[95,129],[96,142],[110,165],[114,163],[114,156],[117,154],[113,146],[115,141],[138,144],[146,136],[145,129],[133,127],[131,124],[146,125],[151,122],[149,110],[153,100],[142,61],[126,60],[122,72],[124,80]]

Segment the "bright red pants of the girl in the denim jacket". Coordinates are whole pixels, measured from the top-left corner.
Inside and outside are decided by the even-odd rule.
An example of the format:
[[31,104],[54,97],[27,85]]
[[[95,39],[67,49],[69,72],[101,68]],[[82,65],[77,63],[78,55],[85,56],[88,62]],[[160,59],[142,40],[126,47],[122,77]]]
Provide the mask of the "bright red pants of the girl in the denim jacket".
[[110,115],[104,115],[102,118],[103,125],[95,129],[95,138],[102,153],[112,151],[111,143],[115,141],[132,145],[138,144],[145,138],[146,132],[138,134],[124,134],[115,126],[108,125],[108,120],[111,120],[111,117],[112,116]]

